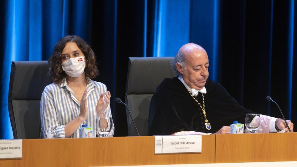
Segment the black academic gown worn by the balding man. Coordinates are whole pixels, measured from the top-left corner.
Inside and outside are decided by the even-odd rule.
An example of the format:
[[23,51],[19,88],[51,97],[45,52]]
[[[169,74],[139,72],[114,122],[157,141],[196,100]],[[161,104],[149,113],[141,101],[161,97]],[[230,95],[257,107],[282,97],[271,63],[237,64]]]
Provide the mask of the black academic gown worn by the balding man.
[[[245,115],[253,113],[240,106],[219,83],[208,79],[205,88],[205,111],[211,130],[204,125],[205,118],[198,103],[175,77],[165,78],[151,99],[148,135],[170,135],[184,130],[215,133],[233,121],[244,124]],[[200,92],[196,98],[203,107]]]

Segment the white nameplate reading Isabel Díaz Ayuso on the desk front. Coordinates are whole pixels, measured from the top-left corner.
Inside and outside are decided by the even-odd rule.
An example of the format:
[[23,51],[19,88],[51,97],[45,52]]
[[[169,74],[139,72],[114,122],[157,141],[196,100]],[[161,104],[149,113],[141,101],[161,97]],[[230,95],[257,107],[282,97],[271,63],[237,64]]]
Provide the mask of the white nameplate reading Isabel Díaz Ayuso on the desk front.
[[201,152],[201,135],[155,136],[155,154]]

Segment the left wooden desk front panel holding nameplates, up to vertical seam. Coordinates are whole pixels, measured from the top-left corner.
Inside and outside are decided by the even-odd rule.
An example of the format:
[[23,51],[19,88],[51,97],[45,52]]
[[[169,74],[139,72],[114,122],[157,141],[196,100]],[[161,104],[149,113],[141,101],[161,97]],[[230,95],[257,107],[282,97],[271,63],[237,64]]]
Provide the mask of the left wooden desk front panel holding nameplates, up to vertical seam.
[[0,166],[120,166],[214,163],[215,135],[202,136],[202,153],[154,155],[154,137],[23,140],[23,158]]

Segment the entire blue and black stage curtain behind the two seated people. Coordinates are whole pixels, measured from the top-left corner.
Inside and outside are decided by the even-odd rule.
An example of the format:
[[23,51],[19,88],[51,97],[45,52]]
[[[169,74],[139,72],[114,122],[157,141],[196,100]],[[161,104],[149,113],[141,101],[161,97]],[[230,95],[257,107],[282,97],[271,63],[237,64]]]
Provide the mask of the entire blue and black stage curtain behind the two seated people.
[[[187,42],[206,49],[209,78],[260,114],[297,122],[296,1],[7,0],[0,6],[0,138],[12,138],[8,116],[11,61],[47,60],[67,34],[97,55],[112,99],[124,99],[128,57],[175,56]],[[127,135],[125,108],[111,101],[115,136]],[[226,123],[230,125],[232,122]]]

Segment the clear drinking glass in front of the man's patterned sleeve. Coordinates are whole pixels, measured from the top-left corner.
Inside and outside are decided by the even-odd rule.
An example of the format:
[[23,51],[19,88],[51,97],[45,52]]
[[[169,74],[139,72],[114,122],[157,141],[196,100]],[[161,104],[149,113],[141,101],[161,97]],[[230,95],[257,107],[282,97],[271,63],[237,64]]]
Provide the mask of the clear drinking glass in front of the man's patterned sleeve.
[[261,124],[260,114],[247,114],[244,124],[249,133],[257,133]]

